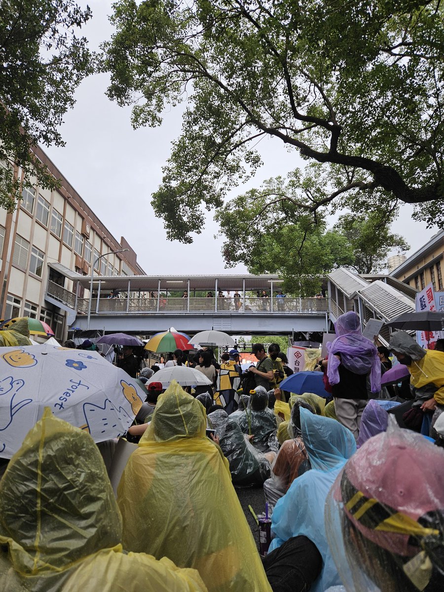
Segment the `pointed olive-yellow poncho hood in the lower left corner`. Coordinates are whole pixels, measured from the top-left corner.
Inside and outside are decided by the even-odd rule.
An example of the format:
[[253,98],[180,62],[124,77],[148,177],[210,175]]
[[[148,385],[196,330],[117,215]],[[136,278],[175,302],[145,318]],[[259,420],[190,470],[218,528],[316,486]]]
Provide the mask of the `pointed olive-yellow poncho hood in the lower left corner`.
[[25,575],[63,570],[121,542],[104,462],[88,433],[49,408],[0,482],[0,541]]

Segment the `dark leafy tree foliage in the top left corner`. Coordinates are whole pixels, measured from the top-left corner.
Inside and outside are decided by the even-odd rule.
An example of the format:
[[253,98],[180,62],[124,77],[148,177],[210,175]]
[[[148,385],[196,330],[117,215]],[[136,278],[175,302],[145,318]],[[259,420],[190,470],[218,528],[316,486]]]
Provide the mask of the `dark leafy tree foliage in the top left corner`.
[[13,210],[24,186],[57,186],[33,155],[38,142],[63,146],[63,115],[76,87],[94,69],[75,30],[91,17],[72,0],[3,0],[0,4],[0,206]]

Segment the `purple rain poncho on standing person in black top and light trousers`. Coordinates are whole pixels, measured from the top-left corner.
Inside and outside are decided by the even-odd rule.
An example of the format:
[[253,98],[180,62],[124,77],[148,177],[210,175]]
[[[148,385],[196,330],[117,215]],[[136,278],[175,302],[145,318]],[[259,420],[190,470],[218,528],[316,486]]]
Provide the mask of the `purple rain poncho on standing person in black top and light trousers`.
[[[339,382],[339,364],[355,372],[355,374],[368,374],[370,372],[370,385],[372,392],[381,390],[381,362],[378,358],[378,350],[375,345],[361,334],[359,317],[353,311],[342,314],[334,323],[336,339],[327,343],[329,351],[329,365],[327,377],[330,384]],[[340,353],[341,359],[334,356]]]

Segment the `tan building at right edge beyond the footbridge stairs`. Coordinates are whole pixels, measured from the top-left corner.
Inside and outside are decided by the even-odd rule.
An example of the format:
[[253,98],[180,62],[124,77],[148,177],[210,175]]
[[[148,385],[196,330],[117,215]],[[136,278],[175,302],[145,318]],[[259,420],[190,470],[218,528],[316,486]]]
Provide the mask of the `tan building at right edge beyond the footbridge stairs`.
[[442,291],[444,272],[444,230],[440,230],[413,255],[391,271],[392,278],[420,291],[432,282],[435,291]]

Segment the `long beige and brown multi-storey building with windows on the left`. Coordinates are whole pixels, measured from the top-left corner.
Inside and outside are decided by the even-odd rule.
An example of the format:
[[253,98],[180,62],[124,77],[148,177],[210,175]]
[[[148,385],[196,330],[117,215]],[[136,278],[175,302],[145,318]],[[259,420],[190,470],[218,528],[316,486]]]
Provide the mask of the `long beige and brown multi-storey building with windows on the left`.
[[[94,275],[132,276],[144,271],[127,241],[112,236],[43,150],[37,147],[34,152],[60,179],[60,188],[49,191],[36,185],[22,191],[13,213],[0,208],[0,317],[38,318],[62,340],[74,320],[63,300],[69,294],[75,299],[76,279],[91,275],[97,259]],[[20,169],[14,174],[21,178]],[[123,249],[128,250],[99,258]],[[49,295],[49,285],[52,295],[59,289],[65,298]],[[80,289],[78,297],[83,296]]]

